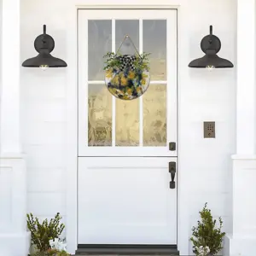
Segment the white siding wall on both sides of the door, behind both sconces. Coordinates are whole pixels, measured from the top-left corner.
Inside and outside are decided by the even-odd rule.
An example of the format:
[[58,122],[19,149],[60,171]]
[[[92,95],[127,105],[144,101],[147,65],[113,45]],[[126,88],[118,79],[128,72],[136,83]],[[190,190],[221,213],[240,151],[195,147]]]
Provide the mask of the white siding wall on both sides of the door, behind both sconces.
[[[140,1],[148,2],[168,4],[168,1]],[[79,3],[105,4],[105,1]],[[233,0],[181,0],[180,3],[179,223],[184,228],[179,236],[188,236],[206,201],[216,217],[224,218],[225,230],[231,231],[230,155],[235,153],[236,145],[236,68],[209,73],[189,69],[188,63],[202,55],[201,38],[212,25],[213,33],[222,41],[219,55],[236,64],[236,3]],[[55,38],[53,55],[66,60],[66,18],[74,4],[75,0],[44,0],[44,4],[22,1],[22,61],[36,55],[33,40],[42,32],[43,24]],[[27,211],[41,218],[52,217],[55,212],[66,215],[66,79],[67,69],[21,70],[22,138],[29,177]],[[204,120],[216,121],[216,139],[203,138]]]

